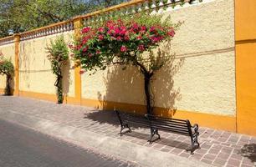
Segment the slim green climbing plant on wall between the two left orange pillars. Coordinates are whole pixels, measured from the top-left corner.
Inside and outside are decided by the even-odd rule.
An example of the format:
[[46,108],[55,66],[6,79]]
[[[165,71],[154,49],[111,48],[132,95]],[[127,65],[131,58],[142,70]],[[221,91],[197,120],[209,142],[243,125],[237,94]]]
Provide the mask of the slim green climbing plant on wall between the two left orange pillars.
[[57,37],[54,41],[50,41],[50,45],[47,46],[47,56],[51,62],[51,68],[53,73],[56,75],[56,82],[54,86],[57,87],[57,98],[58,104],[63,103],[63,68],[64,65],[69,61],[69,49],[67,44],[64,42],[64,36]]

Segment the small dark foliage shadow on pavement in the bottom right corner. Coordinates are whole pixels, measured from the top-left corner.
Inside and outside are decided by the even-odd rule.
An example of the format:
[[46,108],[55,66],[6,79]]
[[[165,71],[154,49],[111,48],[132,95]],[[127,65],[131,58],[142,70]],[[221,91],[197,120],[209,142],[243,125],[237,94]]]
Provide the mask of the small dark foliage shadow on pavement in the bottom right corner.
[[243,157],[247,157],[252,162],[256,162],[256,144],[245,144],[239,151]]

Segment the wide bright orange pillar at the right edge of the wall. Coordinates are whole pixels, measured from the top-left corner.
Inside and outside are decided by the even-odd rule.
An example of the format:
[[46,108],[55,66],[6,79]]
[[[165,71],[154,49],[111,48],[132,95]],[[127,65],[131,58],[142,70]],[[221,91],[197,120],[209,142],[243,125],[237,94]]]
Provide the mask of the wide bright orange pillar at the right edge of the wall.
[[256,1],[235,1],[238,133],[256,135]]

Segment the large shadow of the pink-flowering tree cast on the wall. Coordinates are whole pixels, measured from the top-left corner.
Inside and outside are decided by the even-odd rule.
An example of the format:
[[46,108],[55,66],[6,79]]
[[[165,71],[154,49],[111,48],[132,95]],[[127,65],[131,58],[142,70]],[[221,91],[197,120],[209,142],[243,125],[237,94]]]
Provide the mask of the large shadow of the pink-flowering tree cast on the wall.
[[[147,53],[150,54],[150,53]],[[151,93],[154,97],[154,114],[163,117],[172,117],[176,110],[175,102],[182,98],[181,90],[174,89],[174,76],[182,68],[184,58],[176,58],[172,53],[170,43],[162,43],[151,54],[159,61],[166,61],[162,68],[154,74],[151,80]],[[148,58],[148,56],[145,56]],[[98,92],[100,108],[102,110],[119,109],[125,112],[146,114],[146,98],[144,94],[144,78],[140,70],[132,65],[124,66],[112,65],[107,68],[107,73],[103,76],[105,92]],[[104,114],[104,112],[98,112]],[[105,114],[106,117],[113,115]],[[97,112],[87,114],[88,119],[93,119],[100,123],[110,123],[97,115]],[[115,115],[116,117],[116,115]],[[111,123],[110,123],[111,124]]]

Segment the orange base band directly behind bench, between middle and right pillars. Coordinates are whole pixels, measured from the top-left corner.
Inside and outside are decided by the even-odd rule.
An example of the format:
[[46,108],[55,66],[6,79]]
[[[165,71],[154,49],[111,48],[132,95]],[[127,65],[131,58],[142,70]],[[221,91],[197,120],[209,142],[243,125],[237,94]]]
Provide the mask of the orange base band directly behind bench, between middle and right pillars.
[[[146,106],[140,104],[125,104],[116,102],[99,101],[95,99],[82,99],[81,105],[93,107],[96,109],[120,109],[124,111],[136,112],[145,114]],[[213,129],[228,130],[236,132],[236,117],[218,114],[204,114],[198,112],[189,112],[177,110],[173,112],[170,109],[155,108],[155,114],[161,115],[166,118],[174,119],[189,119],[192,124],[199,124],[199,126],[205,126]]]

